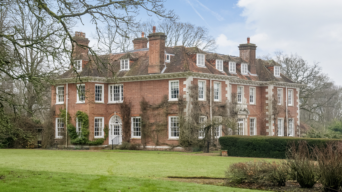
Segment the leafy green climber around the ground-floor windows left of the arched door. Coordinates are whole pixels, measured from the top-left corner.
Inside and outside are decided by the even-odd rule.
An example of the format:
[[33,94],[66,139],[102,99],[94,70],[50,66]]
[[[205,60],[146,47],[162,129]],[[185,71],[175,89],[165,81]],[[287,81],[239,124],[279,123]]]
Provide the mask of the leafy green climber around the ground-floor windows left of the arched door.
[[[66,109],[60,109],[60,117],[63,118],[63,121],[65,122],[66,120]],[[75,121],[78,120],[81,122],[81,133],[78,134],[76,132],[76,127],[71,124],[71,116],[69,114],[69,112],[67,113],[67,120],[68,120],[68,124],[67,124],[67,131],[68,131],[68,135],[70,137],[70,143],[74,143],[74,144],[81,144],[81,145],[102,145],[103,142],[107,139],[108,137],[108,126],[105,125],[104,127],[104,138],[94,138],[94,140],[89,140],[88,136],[89,136],[89,117],[88,114],[83,112],[83,111],[77,111],[76,115],[75,115]],[[77,122],[77,121],[76,121]]]

